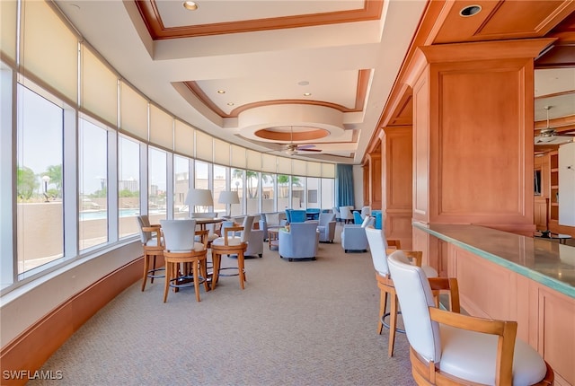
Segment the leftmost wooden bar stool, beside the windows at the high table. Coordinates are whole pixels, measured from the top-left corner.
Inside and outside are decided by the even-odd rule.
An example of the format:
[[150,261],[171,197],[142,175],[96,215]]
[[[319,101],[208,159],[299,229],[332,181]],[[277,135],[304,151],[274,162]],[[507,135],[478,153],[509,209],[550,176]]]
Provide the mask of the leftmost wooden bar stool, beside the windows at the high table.
[[[138,215],[137,224],[140,230],[140,241],[142,241],[142,248],[144,249],[144,274],[142,276],[142,291],[144,291],[148,277],[150,283],[154,283],[155,278],[165,277],[164,274],[157,273],[164,271],[165,268],[155,268],[156,258],[164,256],[164,239],[160,224],[150,224],[147,215]],[[150,268],[150,263],[152,263],[152,268]]]

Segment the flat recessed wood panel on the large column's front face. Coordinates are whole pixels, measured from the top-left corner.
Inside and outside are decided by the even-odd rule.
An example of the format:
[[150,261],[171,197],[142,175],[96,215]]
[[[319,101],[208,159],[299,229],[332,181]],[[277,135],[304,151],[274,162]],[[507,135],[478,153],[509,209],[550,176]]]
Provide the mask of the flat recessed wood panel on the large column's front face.
[[513,67],[439,71],[436,215],[523,215],[523,74]]

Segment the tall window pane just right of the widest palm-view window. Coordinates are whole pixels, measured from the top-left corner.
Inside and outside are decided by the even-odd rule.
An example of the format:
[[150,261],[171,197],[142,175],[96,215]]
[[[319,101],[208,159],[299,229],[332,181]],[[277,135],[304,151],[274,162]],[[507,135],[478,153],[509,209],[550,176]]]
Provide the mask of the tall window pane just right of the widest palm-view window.
[[108,132],[81,118],[78,130],[80,250],[108,241]]

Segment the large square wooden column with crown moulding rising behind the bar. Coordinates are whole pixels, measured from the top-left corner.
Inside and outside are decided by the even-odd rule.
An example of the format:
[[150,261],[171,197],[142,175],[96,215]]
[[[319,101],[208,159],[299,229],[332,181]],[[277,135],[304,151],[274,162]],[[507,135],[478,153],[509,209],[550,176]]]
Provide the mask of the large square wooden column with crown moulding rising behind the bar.
[[[553,39],[420,47],[413,92],[413,219],[532,234],[534,58]],[[413,248],[438,245],[413,230]],[[429,263],[438,261],[429,258]]]

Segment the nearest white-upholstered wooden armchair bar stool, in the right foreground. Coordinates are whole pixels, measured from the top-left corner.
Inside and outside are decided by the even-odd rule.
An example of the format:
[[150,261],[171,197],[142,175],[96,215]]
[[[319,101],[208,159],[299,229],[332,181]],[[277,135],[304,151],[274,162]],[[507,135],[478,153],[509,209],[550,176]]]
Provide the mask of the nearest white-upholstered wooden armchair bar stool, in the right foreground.
[[[420,385],[552,385],[553,370],[516,339],[517,322],[459,314],[455,278],[428,278],[402,250],[388,258],[410,342],[411,373]],[[433,291],[448,290],[451,311]],[[480,289],[478,289],[480,290]]]

